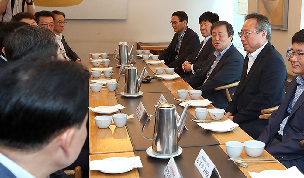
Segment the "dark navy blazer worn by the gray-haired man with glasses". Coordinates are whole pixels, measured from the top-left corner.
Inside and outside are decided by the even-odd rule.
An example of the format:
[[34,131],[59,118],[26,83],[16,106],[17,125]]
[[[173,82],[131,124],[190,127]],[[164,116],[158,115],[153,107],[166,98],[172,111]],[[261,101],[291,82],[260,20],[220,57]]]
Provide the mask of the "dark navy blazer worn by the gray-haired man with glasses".
[[268,124],[261,120],[262,109],[278,106],[285,98],[287,70],[282,55],[270,42],[257,55],[248,75],[248,56],[243,65],[239,86],[226,111],[234,115],[234,122],[257,139]]

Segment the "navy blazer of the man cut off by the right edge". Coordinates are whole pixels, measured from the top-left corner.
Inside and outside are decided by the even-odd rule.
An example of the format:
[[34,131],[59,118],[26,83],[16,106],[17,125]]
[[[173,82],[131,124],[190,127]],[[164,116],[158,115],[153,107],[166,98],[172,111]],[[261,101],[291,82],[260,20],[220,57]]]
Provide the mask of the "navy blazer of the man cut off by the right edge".
[[[269,124],[258,138],[258,140],[268,145],[273,138],[276,138],[283,119],[289,115],[284,127],[284,136],[282,137],[281,143],[267,149],[268,153],[279,161],[294,159],[304,160],[304,147],[299,144],[299,142],[304,139],[304,93],[301,94],[295,103],[295,106],[293,106],[291,113],[288,114],[287,112],[289,103],[297,89],[298,84],[295,80],[296,77],[297,76],[290,82],[284,101],[279,109],[271,114],[269,117]],[[303,168],[304,165],[297,165],[297,167]]]

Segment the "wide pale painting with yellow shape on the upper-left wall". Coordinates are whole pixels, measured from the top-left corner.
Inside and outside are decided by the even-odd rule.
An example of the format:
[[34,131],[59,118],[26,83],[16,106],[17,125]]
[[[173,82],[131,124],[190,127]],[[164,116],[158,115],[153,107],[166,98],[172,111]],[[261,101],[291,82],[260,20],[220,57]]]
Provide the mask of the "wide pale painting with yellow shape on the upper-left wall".
[[67,19],[127,19],[127,0],[35,0],[34,4],[36,12],[58,10]]

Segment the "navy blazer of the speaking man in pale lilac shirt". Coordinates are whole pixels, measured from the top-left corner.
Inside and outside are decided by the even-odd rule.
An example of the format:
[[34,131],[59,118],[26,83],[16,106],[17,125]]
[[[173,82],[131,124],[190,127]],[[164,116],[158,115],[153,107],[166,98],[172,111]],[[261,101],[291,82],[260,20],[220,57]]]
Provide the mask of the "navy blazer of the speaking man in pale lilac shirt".
[[[213,101],[212,105],[216,108],[226,108],[228,106],[226,91],[214,91],[214,88],[240,81],[244,57],[232,44],[204,83],[215,59],[214,55],[210,56],[206,65],[195,72],[187,83],[194,89],[202,90],[202,97]],[[236,87],[230,88],[229,92],[232,94],[235,89]]]

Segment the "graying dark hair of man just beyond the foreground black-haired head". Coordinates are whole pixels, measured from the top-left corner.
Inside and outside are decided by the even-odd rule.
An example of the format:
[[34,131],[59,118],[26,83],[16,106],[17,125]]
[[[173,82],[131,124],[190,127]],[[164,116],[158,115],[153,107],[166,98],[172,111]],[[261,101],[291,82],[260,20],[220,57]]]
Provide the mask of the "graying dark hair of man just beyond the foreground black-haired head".
[[49,56],[56,55],[58,49],[55,34],[41,26],[19,27],[4,42],[5,56],[9,62],[36,52]]

